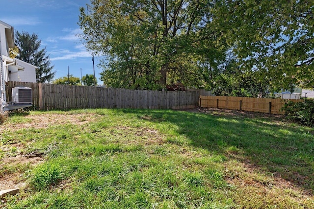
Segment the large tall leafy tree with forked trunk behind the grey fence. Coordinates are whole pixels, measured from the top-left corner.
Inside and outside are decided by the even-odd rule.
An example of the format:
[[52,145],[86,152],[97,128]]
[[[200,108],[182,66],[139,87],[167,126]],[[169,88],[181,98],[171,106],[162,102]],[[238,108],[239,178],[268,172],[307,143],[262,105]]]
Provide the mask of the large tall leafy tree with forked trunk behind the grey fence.
[[105,84],[158,89],[182,80],[202,86],[199,57],[224,54],[211,25],[211,0],[91,0],[80,8],[88,49],[106,55]]

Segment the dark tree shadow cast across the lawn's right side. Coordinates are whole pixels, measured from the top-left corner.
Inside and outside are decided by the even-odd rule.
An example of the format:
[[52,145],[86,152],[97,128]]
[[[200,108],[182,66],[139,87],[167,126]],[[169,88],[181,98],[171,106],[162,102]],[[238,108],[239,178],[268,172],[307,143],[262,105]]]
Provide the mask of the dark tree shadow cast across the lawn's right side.
[[[272,118],[213,116],[202,113],[158,110],[117,110],[151,122],[178,127],[189,144],[216,153],[235,152],[236,159],[249,158],[269,175],[279,176],[313,194],[313,128],[278,123]],[[277,120],[277,123],[276,123]],[[231,156],[232,157],[232,156]],[[244,162],[247,163],[247,162]]]

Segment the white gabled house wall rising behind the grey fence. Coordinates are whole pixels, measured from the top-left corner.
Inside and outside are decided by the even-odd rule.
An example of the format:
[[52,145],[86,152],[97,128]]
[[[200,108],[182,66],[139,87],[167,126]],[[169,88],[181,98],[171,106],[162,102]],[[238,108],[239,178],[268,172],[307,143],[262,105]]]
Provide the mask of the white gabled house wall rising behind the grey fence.
[[24,67],[24,70],[17,70],[17,66],[9,66],[9,71],[11,71],[11,73],[9,73],[9,80],[36,83],[36,66],[19,59],[15,60],[19,66]]

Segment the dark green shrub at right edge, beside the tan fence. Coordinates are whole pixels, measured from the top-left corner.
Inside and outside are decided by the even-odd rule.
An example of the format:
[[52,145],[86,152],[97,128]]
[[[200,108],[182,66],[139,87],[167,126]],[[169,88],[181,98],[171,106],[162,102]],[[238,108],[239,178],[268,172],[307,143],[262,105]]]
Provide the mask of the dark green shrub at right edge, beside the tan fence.
[[301,124],[314,126],[313,99],[306,99],[303,102],[288,101],[283,110],[286,111],[289,119]]

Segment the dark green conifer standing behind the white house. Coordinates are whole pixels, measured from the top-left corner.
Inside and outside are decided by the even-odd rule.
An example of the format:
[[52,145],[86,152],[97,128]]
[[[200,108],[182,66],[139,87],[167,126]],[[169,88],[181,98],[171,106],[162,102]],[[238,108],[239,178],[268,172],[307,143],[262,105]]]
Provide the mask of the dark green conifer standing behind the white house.
[[37,81],[42,83],[52,81],[55,74],[54,66],[51,65],[49,55],[46,55],[46,47],[40,49],[41,40],[38,39],[38,35],[35,33],[30,35],[25,31],[16,32],[15,43],[19,48],[16,58],[38,67]]

